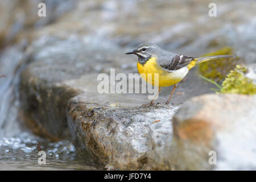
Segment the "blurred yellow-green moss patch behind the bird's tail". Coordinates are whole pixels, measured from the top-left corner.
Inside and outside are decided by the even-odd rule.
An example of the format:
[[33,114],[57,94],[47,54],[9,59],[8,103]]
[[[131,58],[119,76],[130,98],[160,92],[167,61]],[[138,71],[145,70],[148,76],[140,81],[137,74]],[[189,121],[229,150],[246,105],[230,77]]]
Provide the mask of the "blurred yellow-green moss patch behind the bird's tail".
[[[203,56],[214,55],[233,55],[233,49],[230,47],[224,47],[216,52],[210,52],[207,55]],[[204,77],[220,82],[225,78],[230,70],[236,68],[236,65],[238,63],[242,63],[242,61],[238,57],[236,57],[235,59],[231,57],[226,59],[207,61],[205,63],[199,64],[199,72]]]

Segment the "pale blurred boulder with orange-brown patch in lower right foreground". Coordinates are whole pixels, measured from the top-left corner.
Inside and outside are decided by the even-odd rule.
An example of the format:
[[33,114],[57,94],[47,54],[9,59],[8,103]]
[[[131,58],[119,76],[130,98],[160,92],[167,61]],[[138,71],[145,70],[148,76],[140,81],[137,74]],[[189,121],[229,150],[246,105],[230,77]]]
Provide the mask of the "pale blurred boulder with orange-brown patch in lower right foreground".
[[238,94],[186,101],[173,118],[178,169],[255,170],[255,106],[255,96]]

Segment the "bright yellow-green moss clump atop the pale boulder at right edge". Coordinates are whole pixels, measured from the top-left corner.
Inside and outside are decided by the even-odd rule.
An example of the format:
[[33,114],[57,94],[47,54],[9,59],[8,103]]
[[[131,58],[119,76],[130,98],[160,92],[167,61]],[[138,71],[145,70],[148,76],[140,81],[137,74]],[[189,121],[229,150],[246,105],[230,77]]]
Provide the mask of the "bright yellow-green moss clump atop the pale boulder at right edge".
[[222,82],[220,93],[256,94],[256,85],[253,80],[244,76],[245,73],[246,67],[237,65]]

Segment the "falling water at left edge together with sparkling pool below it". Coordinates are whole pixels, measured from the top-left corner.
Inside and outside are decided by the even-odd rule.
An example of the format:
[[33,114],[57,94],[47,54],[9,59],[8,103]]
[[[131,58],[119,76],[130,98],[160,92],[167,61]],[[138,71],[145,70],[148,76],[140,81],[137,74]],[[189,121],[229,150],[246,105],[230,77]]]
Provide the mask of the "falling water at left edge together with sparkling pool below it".
[[[26,43],[25,43],[26,44]],[[48,142],[27,131],[19,118],[19,74],[27,64],[24,43],[7,48],[1,55],[0,80],[0,170],[97,170],[104,166],[79,156],[69,140]],[[39,164],[38,144],[46,152]]]

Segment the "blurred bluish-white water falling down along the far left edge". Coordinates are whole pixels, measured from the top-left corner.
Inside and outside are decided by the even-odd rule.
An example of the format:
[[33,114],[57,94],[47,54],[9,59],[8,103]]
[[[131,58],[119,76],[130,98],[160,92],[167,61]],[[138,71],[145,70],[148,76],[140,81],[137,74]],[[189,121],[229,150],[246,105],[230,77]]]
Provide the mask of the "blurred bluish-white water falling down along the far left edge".
[[3,49],[0,56],[0,138],[10,137],[24,129],[23,122],[18,116],[19,102],[18,89],[19,73],[26,65],[27,56],[23,52],[26,41],[11,48]]

